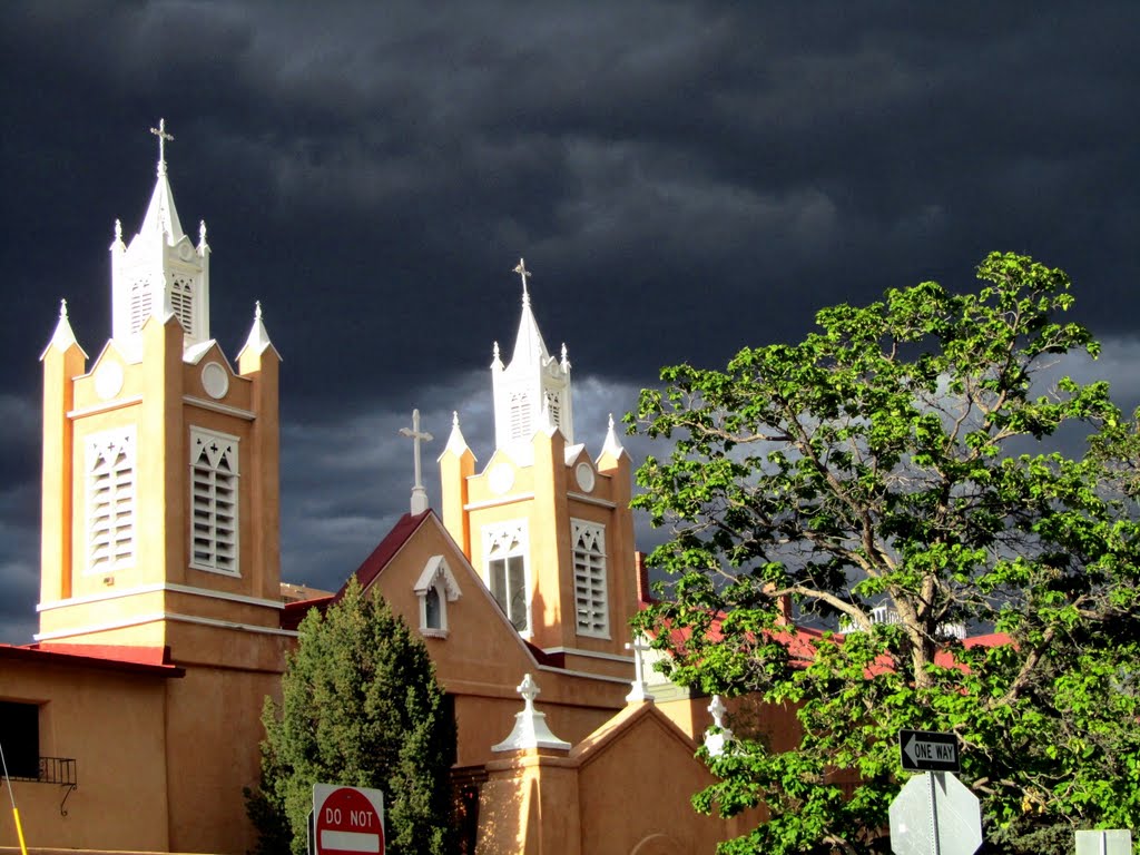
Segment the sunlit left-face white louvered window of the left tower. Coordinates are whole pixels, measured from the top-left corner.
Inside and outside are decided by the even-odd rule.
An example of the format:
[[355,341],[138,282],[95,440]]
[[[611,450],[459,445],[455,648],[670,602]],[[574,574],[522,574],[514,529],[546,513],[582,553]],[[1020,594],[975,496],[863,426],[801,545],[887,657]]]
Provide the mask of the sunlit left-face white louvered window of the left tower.
[[135,429],[91,437],[87,447],[90,573],[135,563]]

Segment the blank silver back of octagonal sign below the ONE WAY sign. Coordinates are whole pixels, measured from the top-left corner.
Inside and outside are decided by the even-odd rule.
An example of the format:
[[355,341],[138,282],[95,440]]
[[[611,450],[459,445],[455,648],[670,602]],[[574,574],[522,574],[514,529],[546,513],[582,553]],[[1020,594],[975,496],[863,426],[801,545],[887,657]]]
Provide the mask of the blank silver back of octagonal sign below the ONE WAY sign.
[[915,775],[890,803],[895,855],[974,855],[982,846],[978,797],[954,775]]

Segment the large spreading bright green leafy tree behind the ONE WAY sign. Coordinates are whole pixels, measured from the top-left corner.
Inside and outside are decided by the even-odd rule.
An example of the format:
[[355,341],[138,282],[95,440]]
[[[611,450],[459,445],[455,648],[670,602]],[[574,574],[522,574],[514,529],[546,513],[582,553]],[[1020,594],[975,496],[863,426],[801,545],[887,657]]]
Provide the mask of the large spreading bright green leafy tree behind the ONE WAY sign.
[[[888,852],[904,727],[958,736],[997,849],[1140,823],[1140,440],[1106,383],[1060,376],[1065,353],[1098,353],[1060,319],[1068,277],[996,253],[978,277],[825,309],[724,372],[666,368],[627,416],[671,443],[638,471],[673,578],[637,622],[675,681],[800,728],[787,752],[742,728],[710,760],[699,809],[771,814],[722,852]],[[1094,454],[1060,453],[1069,423],[1102,429]],[[782,597],[832,632],[784,626]]]

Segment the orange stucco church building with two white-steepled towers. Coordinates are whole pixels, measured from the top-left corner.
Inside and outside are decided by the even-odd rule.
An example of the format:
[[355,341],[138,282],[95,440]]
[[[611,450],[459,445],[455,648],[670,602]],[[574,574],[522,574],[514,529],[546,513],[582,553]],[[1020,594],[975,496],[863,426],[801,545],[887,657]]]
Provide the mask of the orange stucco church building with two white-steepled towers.
[[[33,850],[250,849],[263,699],[279,697],[300,619],[335,598],[282,585],[280,357],[260,303],[233,363],[210,337],[205,223],[182,231],[171,137],[152,130],[149,206],[111,244],[111,337],[90,359],[64,303],[42,355],[40,632],[0,645],[2,744]],[[453,700],[464,850],[711,853],[757,816],[690,807],[711,782],[694,752],[719,708],[643,671],[632,462],[612,417],[586,425],[604,437],[593,455],[576,441],[567,348],[551,353],[530,271],[515,272],[515,341],[490,366],[494,453],[477,467],[457,414],[433,507],[416,415],[401,431],[408,513],[355,576],[423,636]],[[0,847],[15,846],[5,813]]]

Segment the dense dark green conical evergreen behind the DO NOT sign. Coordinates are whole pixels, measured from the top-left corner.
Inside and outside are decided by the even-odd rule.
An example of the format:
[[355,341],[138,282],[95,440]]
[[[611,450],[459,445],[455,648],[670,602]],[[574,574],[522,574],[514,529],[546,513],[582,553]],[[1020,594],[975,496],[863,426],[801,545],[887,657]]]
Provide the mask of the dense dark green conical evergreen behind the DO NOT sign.
[[388,853],[453,852],[450,708],[423,642],[355,578],[301,624],[262,720],[261,787],[246,793],[259,853],[303,855],[315,783],[382,790]]

